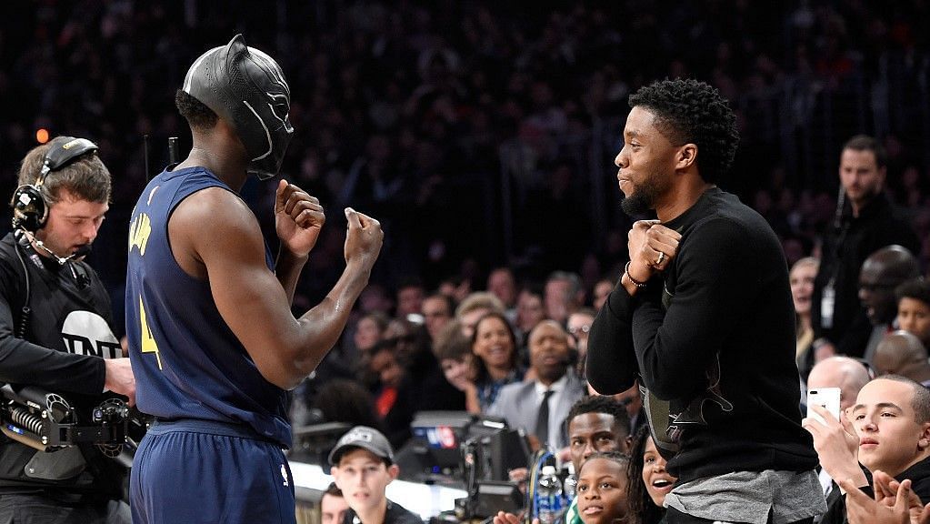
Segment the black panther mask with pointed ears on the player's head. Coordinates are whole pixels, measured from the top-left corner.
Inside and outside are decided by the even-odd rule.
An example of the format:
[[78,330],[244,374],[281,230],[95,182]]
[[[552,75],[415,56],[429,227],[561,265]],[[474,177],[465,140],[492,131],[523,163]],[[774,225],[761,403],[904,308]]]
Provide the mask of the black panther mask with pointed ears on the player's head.
[[249,173],[262,180],[278,174],[294,128],[290,88],[272,57],[236,34],[193,62],[183,89],[233,125],[251,157]]

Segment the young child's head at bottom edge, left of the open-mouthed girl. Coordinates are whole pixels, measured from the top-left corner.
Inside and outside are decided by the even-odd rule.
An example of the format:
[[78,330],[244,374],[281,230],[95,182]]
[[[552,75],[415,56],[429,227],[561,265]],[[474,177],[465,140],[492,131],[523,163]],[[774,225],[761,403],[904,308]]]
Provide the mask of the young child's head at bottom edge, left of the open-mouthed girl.
[[591,455],[578,471],[578,515],[584,524],[626,522],[629,459],[618,451]]

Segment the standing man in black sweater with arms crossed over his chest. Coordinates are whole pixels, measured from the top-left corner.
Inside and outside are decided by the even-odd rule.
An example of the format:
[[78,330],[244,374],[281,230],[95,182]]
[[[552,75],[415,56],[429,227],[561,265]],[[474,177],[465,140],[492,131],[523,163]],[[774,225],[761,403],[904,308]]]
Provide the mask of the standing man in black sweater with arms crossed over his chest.
[[[678,477],[678,522],[809,522],[826,510],[801,428],[788,266],[764,219],[716,183],[736,116],[713,87],[666,80],[630,97],[617,155],[631,261],[591,325],[588,379],[638,382]],[[771,520],[770,520],[771,519]]]

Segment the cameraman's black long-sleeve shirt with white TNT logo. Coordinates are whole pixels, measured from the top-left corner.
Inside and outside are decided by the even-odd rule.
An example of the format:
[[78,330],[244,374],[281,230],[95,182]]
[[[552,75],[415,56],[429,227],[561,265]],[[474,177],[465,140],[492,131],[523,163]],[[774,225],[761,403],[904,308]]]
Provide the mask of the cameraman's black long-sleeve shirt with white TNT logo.
[[[32,312],[22,332],[22,306],[27,300],[24,269],[29,272]],[[106,371],[101,356],[122,356],[122,351],[113,335],[110,298],[100,277],[84,262],[62,266],[38,256],[31,247],[18,247],[13,234],[0,240],[0,382],[58,393],[80,410],[85,418],[79,423],[86,424],[89,409],[102,400]],[[0,493],[56,490],[118,498],[125,470],[92,445],[80,448],[87,462],[82,473],[46,480],[25,473],[36,450],[0,436]]]

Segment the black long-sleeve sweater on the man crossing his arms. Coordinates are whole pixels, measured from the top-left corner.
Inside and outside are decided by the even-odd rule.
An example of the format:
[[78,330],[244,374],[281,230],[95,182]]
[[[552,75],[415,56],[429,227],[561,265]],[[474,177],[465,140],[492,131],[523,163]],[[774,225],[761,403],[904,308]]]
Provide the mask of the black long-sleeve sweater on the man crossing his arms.
[[591,326],[591,385],[613,394],[640,380],[680,481],[813,469],[777,236],[718,188],[665,225],[682,234],[669,268],[635,296],[618,285]]

